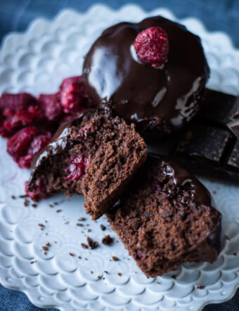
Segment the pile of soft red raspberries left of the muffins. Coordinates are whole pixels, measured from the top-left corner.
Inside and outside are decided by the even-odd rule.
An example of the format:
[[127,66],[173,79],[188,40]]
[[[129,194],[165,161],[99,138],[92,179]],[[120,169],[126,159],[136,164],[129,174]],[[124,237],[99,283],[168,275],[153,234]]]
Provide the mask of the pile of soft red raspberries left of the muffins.
[[64,79],[56,94],[34,96],[4,93],[0,97],[0,135],[8,138],[7,151],[19,167],[51,141],[60,123],[76,118],[92,104],[81,76]]

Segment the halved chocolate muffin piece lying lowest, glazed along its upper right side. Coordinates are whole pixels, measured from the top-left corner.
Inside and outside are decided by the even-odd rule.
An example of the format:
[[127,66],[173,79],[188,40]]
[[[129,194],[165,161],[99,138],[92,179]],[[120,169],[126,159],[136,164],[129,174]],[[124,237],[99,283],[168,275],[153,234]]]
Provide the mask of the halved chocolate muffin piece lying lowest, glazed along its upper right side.
[[214,262],[225,242],[207,189],[172,158],[153,153],[107,217],[147,277],[183,262]]

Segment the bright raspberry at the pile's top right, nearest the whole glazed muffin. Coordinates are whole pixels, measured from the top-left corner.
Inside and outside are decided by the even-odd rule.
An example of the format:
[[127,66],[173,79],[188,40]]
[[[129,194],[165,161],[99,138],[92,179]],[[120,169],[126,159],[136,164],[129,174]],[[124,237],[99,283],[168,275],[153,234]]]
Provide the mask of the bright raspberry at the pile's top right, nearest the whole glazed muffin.
[[69,77],[60,85],[60,101],[64,113],[81,112],[84,109],[84,82],[81,76]]

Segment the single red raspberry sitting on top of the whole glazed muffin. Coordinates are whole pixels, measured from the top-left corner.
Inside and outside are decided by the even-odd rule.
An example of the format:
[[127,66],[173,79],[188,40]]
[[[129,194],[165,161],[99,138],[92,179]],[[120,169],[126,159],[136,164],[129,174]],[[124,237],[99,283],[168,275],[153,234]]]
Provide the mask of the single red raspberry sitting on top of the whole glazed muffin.
[[161,66],[167,61],[169,39],[161,27],[150,27],[140,32],[134,40],[134,49],[138,58],[153,67]]

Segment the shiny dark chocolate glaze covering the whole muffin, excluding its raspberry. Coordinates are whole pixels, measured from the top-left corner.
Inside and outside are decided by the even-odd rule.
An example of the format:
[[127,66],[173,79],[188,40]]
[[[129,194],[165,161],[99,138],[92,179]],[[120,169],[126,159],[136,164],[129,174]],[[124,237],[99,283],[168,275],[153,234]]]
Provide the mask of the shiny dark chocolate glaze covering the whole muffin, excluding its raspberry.
[[[142,63],[134,51],[136,35],[162,27],[169,57],[160,68]],[[87,53],[83,78],[94,103],[106,103],[140,132],[170,133],[198,111],[209,77],[200,38],[161,16],[120,23],[105,30]]]

